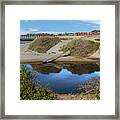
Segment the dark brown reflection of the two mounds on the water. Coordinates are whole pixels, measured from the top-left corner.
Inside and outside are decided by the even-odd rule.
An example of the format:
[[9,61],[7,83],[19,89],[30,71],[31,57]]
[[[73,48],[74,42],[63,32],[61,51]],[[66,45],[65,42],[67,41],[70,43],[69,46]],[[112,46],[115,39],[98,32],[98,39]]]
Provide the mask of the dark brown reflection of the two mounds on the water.
[[48,63],[48,64],[32,64],[34,70],[37,70],[43,74],[59,73],[62,69],[67,69],[74,74],[85,74],[99,71],[99,65],[95,63]]

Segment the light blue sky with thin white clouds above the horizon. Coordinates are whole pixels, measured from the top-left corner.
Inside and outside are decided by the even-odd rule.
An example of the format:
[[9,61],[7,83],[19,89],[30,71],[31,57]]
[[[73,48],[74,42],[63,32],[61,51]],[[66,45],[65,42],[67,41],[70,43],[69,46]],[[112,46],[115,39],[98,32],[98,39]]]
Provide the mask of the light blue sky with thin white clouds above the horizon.
[[99,20],[21,20],[20,34],[64,33],[100,30]]

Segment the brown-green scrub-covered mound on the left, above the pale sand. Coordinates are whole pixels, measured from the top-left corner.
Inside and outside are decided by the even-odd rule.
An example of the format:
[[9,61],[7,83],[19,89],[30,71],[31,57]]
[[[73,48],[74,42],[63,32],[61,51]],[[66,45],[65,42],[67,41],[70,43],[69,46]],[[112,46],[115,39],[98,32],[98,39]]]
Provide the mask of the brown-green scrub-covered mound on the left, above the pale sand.
[[39,37],[36,38],[28,47],[28,49],[32,51],[36,51],[39,53],[45,53],[51,47],[55,46],[59,43],[61,39],[59,37]]

